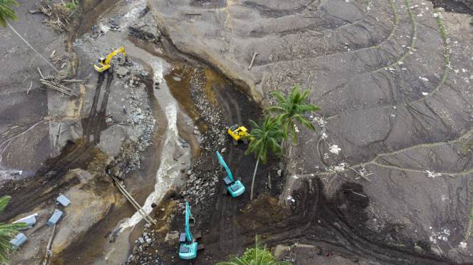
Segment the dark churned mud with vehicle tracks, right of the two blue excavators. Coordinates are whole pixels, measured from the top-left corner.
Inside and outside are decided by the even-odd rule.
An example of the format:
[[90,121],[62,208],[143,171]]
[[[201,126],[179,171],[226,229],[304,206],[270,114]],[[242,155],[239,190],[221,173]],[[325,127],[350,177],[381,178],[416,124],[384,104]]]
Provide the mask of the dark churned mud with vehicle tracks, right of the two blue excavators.
[[[325,245],[340,253],[382,264],[457,264],[439,256],[415,253],[412,251],[414,241],[409,238],[397,238],[405,245],[382,238],[382,234],[402,237],[397,233],[399,227],[386,227],[380,234],[364,229],[369,199],[361,185],[347,182],[332,199],[325,197],[323,189],[322,180],[304,180],[293,194],[293,215],[280,222],[277,229],[267,229],[265,232],[271,236],[265,241],[268,244]],[[417,241],[417,245],[428,244]]]

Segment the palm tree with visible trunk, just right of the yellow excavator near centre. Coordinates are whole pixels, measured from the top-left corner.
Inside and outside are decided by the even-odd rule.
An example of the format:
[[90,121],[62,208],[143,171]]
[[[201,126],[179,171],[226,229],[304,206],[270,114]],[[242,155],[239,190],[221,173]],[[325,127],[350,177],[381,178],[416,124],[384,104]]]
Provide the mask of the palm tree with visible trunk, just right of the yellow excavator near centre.
[[270,116],[265,116],[265,122],[261,126],[256,124],[253,120],[249,120],[249,122],[253,129],[251,130],[250,135],[243,137],[243,140],[251,140],[245,155],[255,152],[255,158],[257,159],[255,173],[253,174],[253,182],[251,183],[250,199],[253,199],[253,186],[255,185],[255,175],[256,170],[258,169],[258,162],[263,160],[263,165],[266,165],[266,162],[268,162],[268,148],[270,148],[272,152],[277,152],[279,155],[282,155],[283,150],[278,145],[278,142],[285,137],[285,135],[283,131],[280,130],[279,121]]

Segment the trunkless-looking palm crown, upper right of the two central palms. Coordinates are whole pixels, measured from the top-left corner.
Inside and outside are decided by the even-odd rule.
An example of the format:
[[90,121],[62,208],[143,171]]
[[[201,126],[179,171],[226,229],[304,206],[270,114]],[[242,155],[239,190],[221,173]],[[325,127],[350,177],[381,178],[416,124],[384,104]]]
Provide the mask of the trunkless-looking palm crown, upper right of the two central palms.
[[320,110],[319,107],[312,104],[305,104],[305,97],[310,93],[310,90],[304,90],[302,95],[299,91],[299,85],[295,85],[291,93],[288,95],[288,99],[284,98],[283,93],[280,91],[273,91],[271,95],[278,98],[279,103],[278,107],[270,107],[264,112],[270,113],[279,113],[278,120],[283,126],[285,135],[288,135],[288,130],[290,128],[290,134],[293,136],[294,143],[297,143],[297,137],[295,136],[295,126],[294,121],[300,123],[302,126],[309,128],[310,130],[315,130],[314,125],[310,123],[309,120],[302,117],[302,114],[309,113],[312,111]]

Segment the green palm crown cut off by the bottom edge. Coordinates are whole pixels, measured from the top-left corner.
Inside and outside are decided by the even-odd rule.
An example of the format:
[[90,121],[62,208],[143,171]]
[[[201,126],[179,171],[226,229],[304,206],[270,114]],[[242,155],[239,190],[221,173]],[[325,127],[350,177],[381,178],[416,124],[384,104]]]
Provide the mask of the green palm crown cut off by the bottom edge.
[[[273,256],[271,256],[270,251],[266,249],[266,244],[263,248],[261,247],[261,245],[262,245],[262,242],[259,239],[258,234],[257,234],[255,236],[254,253],[250,256],[249,259],[243,258],[243,256],[245,255],[243,255],[241,258],[237,258],[235,255],[230,255],[230,261],[219,262],[216,265],[291,265],[288,261],[275,261]],[[250,249],[250,250],[253,250],[253,249]],[[265,259],[268,256],[272,259],[269,259],[269,260]]]

